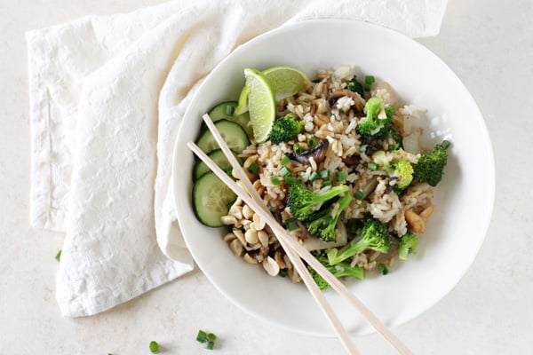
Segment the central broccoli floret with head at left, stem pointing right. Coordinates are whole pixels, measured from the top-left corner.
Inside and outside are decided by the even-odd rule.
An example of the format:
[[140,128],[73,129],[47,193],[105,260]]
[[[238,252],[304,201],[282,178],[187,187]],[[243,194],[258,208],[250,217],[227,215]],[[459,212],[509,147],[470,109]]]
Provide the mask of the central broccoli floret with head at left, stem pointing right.
[[339,194],[346,193],[349,189],[350,187],[346,185],[338,185],[322,193],[314,193],[308,190],[306,185],[297,182],[289,187],[287,206],[289,206],[292,216],[297,217],[300,221],[307,221],[319,204],[330,201]]

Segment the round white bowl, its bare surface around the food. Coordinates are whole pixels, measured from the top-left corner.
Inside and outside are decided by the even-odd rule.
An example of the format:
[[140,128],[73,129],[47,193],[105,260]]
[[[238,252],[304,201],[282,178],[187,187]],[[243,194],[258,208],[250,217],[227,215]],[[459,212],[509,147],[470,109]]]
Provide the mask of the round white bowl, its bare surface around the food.
[[[192,208],[194,155],[187,142],[195,140],[202,115],[238,98],[243,68],[276,65],[298,67],[310,77],[319,68],[353,65],[390,83],[405,102],[427,108],[426,146],[452,141],[418,254],[386,276],[346,282],[386,325],[413,319],[457,284],[481,247],[494,199],[494,162],[481,113],[463,83],[431,51],[386,28],[351,20],[299,22],[245,43],[211,72],[183,118],[174,156],[175,199],[187,247],[212,284],[245,312],[298,333],[333,335],[303,284],[244,263],[222,241],[223,230],[202,225]],[[325,295],[352,334],[373,330],[334,291]]]

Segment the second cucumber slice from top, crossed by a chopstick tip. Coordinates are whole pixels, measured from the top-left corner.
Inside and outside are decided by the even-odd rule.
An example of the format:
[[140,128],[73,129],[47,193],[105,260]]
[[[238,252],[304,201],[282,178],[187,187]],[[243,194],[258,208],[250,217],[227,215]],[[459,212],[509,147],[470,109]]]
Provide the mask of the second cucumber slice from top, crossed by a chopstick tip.
[[[243,130],[238,123],[221,119],[215,122],[215,127],[219,130],[220,135],[229,146],[229,149],[234,152],[241,153],[244,148],[250,145],[248,134]],[[210,153],[215,149],[219,149],[219,144],[213,137],[210,130],[203,130],[200,138],[196,140],[196,145],[200,147],[205,153]]]

